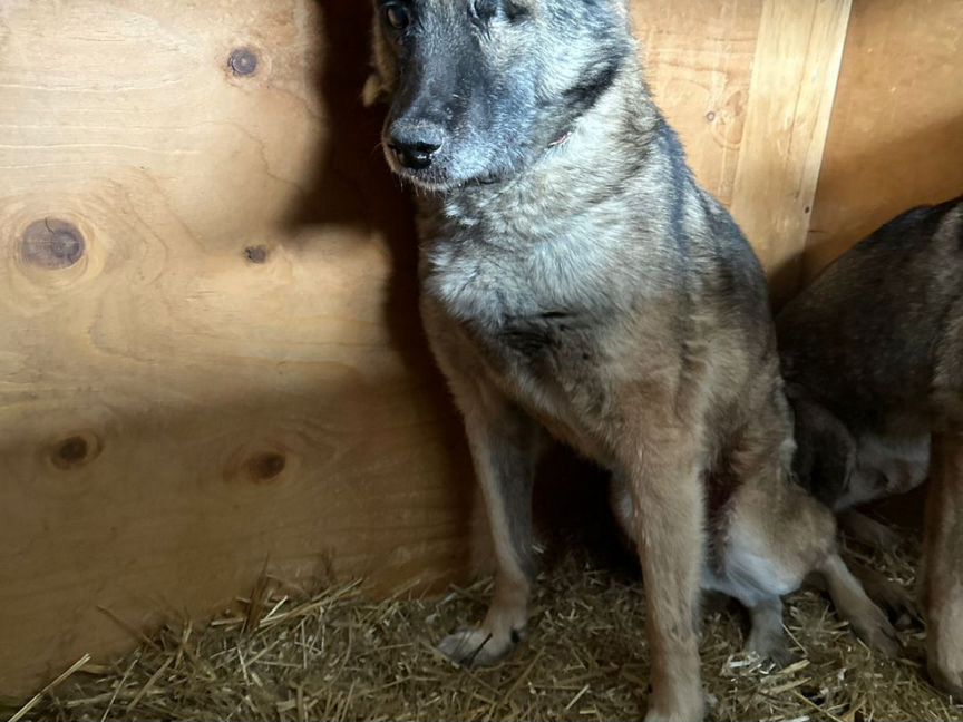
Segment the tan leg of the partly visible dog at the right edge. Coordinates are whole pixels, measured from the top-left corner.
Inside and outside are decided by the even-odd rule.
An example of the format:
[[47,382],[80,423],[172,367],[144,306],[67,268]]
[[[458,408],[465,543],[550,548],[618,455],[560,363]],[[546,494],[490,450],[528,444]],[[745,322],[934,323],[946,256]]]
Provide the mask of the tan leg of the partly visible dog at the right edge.
[[933,435],[924,554],[930,675],[963,700],[963,433]]

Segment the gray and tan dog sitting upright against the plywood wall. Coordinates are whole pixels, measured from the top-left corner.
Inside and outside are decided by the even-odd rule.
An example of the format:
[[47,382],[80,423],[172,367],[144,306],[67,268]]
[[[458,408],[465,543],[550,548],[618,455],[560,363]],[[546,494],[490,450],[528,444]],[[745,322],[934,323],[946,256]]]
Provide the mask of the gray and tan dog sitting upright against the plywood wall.
[[484,622],[519,640],[532,484],[554,437],[631,498],[652,656],[649,720],[700,720],[700,586],[779,655],[779,596],[823,572],[865,638],[885,616],[790,480],[791,421],[759,263],[693,179],[638,66],[624,0],[376,0],[383,145],[418,191],[421,310],[464,414],[496,555]]

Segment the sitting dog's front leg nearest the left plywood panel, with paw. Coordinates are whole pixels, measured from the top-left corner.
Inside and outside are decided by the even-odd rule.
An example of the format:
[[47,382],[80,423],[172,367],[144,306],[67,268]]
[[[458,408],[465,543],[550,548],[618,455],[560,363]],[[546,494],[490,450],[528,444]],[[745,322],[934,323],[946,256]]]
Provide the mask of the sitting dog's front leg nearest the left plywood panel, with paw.
[[541,426],[488,389],[457,393],[495,552],[495,594],[480,626],[439,648],[467,665],[493,664],[521,640],[527,622],[532,562],[532,484]]

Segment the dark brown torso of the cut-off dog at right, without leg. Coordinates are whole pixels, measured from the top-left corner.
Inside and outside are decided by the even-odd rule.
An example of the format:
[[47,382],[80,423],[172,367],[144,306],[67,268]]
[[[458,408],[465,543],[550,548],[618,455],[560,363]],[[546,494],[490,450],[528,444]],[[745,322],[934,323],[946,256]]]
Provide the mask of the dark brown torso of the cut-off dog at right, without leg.
[[779,314],[782,371],[845,422],[928,414],[954,312],[963,316],[963,198],[894,218]]

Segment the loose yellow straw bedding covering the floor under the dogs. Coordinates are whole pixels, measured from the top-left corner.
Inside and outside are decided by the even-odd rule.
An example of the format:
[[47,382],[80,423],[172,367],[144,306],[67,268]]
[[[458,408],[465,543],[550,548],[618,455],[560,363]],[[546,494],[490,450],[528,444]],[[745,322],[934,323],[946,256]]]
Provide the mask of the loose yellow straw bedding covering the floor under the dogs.
[[[914,583],[916,539],[849,554]],[[374,602],[360,583],[302,595],[265,578],[210,625],[171,623],[113,664],[72,671],[20,719],[640,719],[649,661],[638,572],[583,552],[544,566],[527,640],[494,669],[458,669],[432,646],[480,617],[487,582],[440,599]],[[740,652],[746,618],[735,605],[707,601],[703,616],[712,719],[963,720],[925,680],[918,622],[899,632],[903,657],[884,660],[818,592],[799,592],[786,608],[797,661],[777,670]]]

